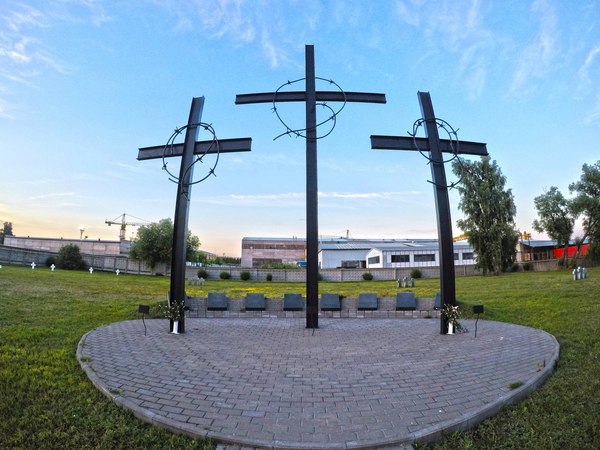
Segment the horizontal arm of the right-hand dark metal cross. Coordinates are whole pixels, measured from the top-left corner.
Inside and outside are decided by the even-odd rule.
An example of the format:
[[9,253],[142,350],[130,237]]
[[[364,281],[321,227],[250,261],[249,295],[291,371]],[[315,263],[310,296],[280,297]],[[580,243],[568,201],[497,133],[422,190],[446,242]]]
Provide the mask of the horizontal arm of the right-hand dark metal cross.
[[[415,147],[415,142],[418,148]],[[456,143],[449,139],[440,139],[440,150],[444,153],[454,153],[452,145]],[[373,150],[414,150],[428,152],[429,140],[427,138],[413,138],[411,136],[382,136],[371,135],[371,148]],[[458,154],[488,156],[487,145],[480,142],[459,141]]]

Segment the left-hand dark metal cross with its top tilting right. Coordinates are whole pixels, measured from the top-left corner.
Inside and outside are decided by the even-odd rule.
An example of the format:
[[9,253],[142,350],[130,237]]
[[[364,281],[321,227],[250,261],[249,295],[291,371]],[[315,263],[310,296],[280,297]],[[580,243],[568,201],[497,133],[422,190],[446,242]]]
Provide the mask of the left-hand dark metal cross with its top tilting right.
[[[213,141],[196,141],[200,127],[204,97],[194,97],[190,108],[185,140],[183,144],[174,144],[165,154],[165,146],[144,147],[138,151],[138,160],[157,159],[181,156],[179,182],[177,184],[177,200],[175,202],[175,221],[173,223],[173,254],[171,257],[171,285],[169,301],[185,301],[185,253],[190,197],[192,195],[192,178],[194,172],[194,155],[207,153],[227,153],[250,151],[252,139],[220,139],[218,149]],[[170,324],[171,328],[173,323]],[[179,319],[179,332],[185,332],[185,315]]]

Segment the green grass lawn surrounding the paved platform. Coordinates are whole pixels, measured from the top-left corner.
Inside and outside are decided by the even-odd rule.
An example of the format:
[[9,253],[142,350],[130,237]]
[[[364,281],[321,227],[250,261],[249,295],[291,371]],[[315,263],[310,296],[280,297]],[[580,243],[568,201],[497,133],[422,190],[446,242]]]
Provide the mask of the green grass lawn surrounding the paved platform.
[[[541,328],[557,337],[555,374],[523,402],[476,429],[446,437],[440,449],[600,448],[600,269],[573,281],[568,271],[458,278],[465,311],[483,304],[483,317]],[[321,293],[395,296],[394,281],[320,283]],[[163,302],[167,277],[51,272],[44,267],[0,269],[1,449],[213,448],[135,419],[105,398],[85,376],[75,352],[98,326],[138,318],[138,304]],[[189,296],[225,292],[268,298],[304,293],[303,283],[207,280]],[[419,297],[433,297],[438,279],[417,280]],[[156,310],[156,308],[152,308]],[[342,320],[342,319],[340,319]]]

